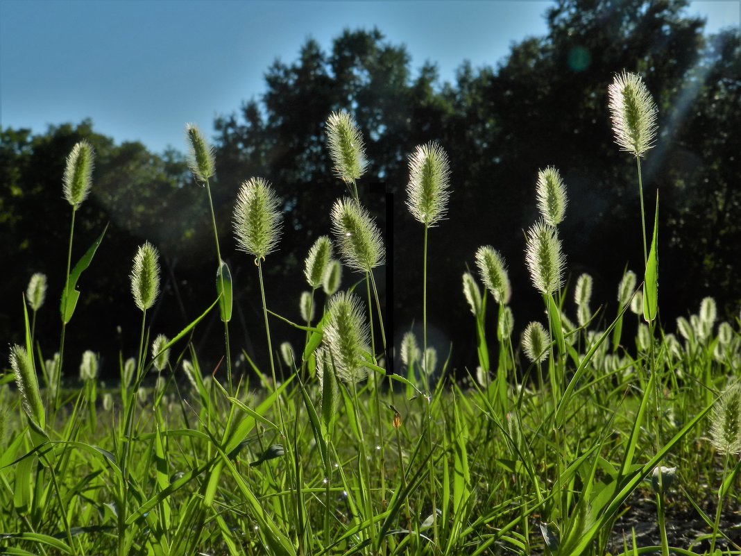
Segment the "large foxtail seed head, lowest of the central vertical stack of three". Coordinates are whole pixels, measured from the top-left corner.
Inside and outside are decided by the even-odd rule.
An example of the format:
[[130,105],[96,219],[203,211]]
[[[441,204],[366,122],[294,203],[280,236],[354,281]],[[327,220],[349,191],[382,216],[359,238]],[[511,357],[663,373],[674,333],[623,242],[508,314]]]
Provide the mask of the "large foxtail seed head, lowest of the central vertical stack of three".
[[324,342],[330,351],[337,378],[357,383],[368,374],[365,354],[369,351],[370,328],[360,299],[341,291],[328,302]]

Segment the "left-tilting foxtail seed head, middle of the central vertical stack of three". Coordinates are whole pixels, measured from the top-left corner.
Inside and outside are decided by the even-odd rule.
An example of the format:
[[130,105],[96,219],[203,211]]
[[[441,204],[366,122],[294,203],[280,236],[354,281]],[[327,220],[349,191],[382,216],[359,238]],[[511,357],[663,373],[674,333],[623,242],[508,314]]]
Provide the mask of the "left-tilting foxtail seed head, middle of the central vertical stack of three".
[[332,207],[332,231],[345,264],[356,271],[370,272],[382,265],[385,249],[376,222],[359,202],[345,197]]

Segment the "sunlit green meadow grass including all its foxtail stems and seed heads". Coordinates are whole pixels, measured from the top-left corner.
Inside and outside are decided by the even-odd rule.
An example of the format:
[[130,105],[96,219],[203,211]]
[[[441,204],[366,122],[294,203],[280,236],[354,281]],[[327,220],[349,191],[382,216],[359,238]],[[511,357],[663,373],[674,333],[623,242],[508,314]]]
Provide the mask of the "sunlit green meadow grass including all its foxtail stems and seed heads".
[[[106,234],[72,264],[95,160],[91,145],[76,145],[62,177],[72,214],[66,280],[56,285],[59,350],[43,353],[36,338],[36,314],[55,289],[34,274],[18,298],[24,345],[10,346],[0,375],[0,553],[741,554],[740,323],[717,322],[709,297],[676,327],[660,322],[659,277],[671,277],[660,275],[658,193],[643,191],[641,174],[657,107],[635,73],[616,76],[608,96],[615,141],[636,164],[643,268],[614,277],[609,300],[593,298],[589,274],[571,276],[559,230],[568,184],[545,166],[522,259],[506,261],[496,237],[485,238],[451,269],[462,273],[457,295],[476,338],[465,375],[428,338],[428,257],[455,195],[444,146],[429,142],[408,158],[406,205],[424,228],[419,260],[407,265],[422,281],[422,337],[389,337],[376,282],[384,233],[364,204],[372,162],[362,130],[339,111],[326,121],[326,145],[346,191],[305,255],[306,290],[291,292],[300,322],[270,310],[265,269],[281,256],[283,231],[270,176],[245,176],[233,207],[239,257],[253,270],[241,279],[259,284],[262,329],[253,332],[269,368],[246,348],[231,351],[239,284],[211,202],[219,161],[188,124],[190,171],[213,223],[214,274],[204,277],[216,277],[213,297],[172,338],[153,329],[162,268],[144,242],[129,271],[138,352],[119,354],[116,388],[100,382],[93,351],[72,379],[64,338],[76,325],[76,285]],[[531,285],[510,282],[508,268],[523,263]],[[512,291],[531,286],[542,319],[517,323]],[[191,341],[217,313],[218,373]],[[628,320],[636,337],[624,332]],[[303,345],[271,334],[278,322]]]

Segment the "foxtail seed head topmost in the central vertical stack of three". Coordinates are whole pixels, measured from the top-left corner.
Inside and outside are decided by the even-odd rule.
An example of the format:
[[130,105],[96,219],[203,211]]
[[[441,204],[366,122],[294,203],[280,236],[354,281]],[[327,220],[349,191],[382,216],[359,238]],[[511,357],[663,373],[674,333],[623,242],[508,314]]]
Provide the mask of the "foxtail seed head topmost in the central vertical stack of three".
[[330,114],[326,132],[329,154],[336,175],[345,183],[355,183],[368,166],[360,128],[352,116],[342,110]]

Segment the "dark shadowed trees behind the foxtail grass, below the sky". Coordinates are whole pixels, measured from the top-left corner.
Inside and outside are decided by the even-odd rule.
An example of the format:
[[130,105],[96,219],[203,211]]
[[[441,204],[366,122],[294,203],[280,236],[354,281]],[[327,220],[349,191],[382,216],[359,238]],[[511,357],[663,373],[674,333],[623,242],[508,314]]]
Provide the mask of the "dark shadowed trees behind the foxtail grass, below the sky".
[[[548,13],[547,36],[513,44],[497,67],[463,64],[454,83],[441,83],[433,63],[411,67],[405,47],[389,44],[376,29],[344,30],[330,52],[308,40],[295,61],[275,62],[265,73],[267,93],[216,119],[210,133],[217,168],[213,202],[237,290],[233,353],[244,348],[259,364],[267,357],[256,268],[234,250],[231,233],[239,185],[262,176],[282,195],[280,251],[265,265],[268,305],[297,321],[306,289],[303,259],[316,237],[329,233],[330,207],[344,193],[324,135],[328,115],[341,109],[353,113],[367,143],[371,164],[359,190],[388,242],[388,279],[381,273],[379,285],[393,286],[393,294],[382,290],[393,313],[394,343],[422,317],[422,227],[406,210],[405,187],[408,154],[433,140],[450,156],[453,188],[448,220],[430,234],[428,322],[442,360],[452,344],[453,368],[476,367],[461,276],[475,267],[480,245],[493,245],[507,259],[516,339],[529,320],[543,320],[523,250],[524,230],[536,219],[536,173],[547,165],[559,168],[568,188],[561,239],[571,285],[582,272],[591,274],[592,305],[604,304],[602,318],[610,322],[626,265],[642,272],[635,163],[614,144],[607,107],[607,86],[623,69],[642,73],[659,105],[657,145],[643,168],[647,211],[659,191],[660,318],[673,330],[674,319],[697,311],[706,295],[717,299],[721,318],[736,318],[740,36],[738,30],[703,35],[702,20],[688,19],[684,6],[674,0],[561,0]],[[138,142],[116,145],[89,120],[38,135],[3,128],[0,136],[0,260],[6,269],[0,336],[6,342],[21,342],[21,291],[40,271],[50,288],[36,337],[44,357],[58,348],[70,225],[62,172],[80,139],[93,144],[97,159],[93,191],[76,219],[73,262],[106,222],[110,228],[79,283],[82,297],[67,328],[66,373],[76,374],[85,349],[101,355],[104,376],[117,374],[119,351],[124,359],[135,353],[140,314],[128,275],[144,239],[162,255],[153,336],[176,334],[213,301],[216,255],[207,199],[182,153],[150,153]],[[344,286],[354,279],[359,275],[346,269]],[[574,315],[571,296],[565,308]],[[494,314],[489,322],[494,326]],[[302,344],[301,334],[277,322],[273,334]],[[215,367],[223,351],[218,314],[200,325],[194,343],[204,368]]]

